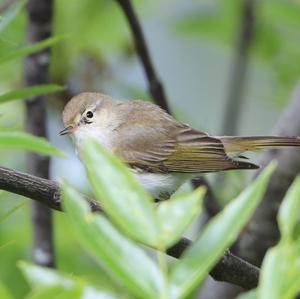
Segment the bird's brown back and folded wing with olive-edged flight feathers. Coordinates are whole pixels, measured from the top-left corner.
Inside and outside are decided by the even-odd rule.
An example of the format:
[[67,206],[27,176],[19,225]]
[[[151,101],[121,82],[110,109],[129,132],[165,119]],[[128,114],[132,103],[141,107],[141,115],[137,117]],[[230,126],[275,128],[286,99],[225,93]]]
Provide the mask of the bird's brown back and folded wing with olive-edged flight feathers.
[[[122,138],[114,149],[132,168],[162,173],[257,168],[254,164],[230,159],[220,139],[177,122],[157,106],[137,104],[141,105],[141,110],[135,105],[129,120],[127,118],[128,121],[118,128],[126,140]],[[147,114],[145,105],[151,108]],[[142,111],[143,126],[137,117]]]

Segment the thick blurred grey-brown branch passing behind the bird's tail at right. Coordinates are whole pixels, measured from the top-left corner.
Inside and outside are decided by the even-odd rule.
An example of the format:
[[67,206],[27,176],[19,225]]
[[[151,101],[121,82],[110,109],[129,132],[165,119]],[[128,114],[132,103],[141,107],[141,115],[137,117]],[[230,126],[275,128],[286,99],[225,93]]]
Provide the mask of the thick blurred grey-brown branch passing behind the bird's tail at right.
[[[282,113],[273,133],[282,136],[300,135],[300,83]],[[298,149],[268,151],[263,155],[262,165],[276,160],[278,166],[272,175],[268,189],[259,208],[255,211],[247,229],[238,240],[238,254],[255,265],[260,265],[266,251],[279,239],[277,213],[282,199],[300,172]],[[258,175],[260,171],[256,173]]]

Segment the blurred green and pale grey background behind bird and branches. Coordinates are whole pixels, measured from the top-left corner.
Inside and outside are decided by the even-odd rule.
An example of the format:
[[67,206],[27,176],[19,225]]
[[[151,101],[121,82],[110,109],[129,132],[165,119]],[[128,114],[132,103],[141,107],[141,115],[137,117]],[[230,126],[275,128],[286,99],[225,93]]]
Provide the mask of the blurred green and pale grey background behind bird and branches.
[[[1,0],[0,5],[4,2]],[[72,144],[57,134],[62,129],[64,103],[81,91],[101,91],[121,99],[151,97],[128,25],[115,1],[54,2],[54,35],[68,37],[53,47],[51,82],[67,86],[67,92],[49,97],[48,132],[51,142],[66,151],[68,157],[53,158],[51,174],[56,180],[68,178],[88,192],[84,170]],[[241,27],[241,3],[134,1],[172,111],[179,120],[215,135],[224,133],[222,124]],[[0,12],[3,13],[5,10]],[[26,44],[26,24],[24,8],[1,32],[0,55]],[[254,26],[237,132],[266,135],[271,133],[299,80],[300,2],[256,1]],[[23,61],[1,65],[0,94],[21,86]],[[0,127],[23,128],[24,123],[23,102],[1,105]],[[26,155],[1,150],[0,164],[25,171]],[[222,189],[221,200],[243,188],[245,180],[236,182],[237,175],[240,174],[227,174],[231,183]],[[5,192],[0,197],[0,219],[6,211],[24,203],[0,225],[0,280],[16,298],[23,298],[28,287],[16,263],[31,259],[31,202]],[[110,286],[109,277],[80,248],[59,212],[55,213],[55,243],[59,269]]]

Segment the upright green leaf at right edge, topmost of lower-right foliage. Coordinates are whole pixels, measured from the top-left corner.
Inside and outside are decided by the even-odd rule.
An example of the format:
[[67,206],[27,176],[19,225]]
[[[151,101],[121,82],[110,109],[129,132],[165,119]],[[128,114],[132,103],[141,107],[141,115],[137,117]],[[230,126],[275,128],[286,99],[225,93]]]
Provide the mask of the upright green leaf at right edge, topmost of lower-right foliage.
[[292,238],[300,218],[300,177],[298,176],[280,206],[278,223],[283,238]]

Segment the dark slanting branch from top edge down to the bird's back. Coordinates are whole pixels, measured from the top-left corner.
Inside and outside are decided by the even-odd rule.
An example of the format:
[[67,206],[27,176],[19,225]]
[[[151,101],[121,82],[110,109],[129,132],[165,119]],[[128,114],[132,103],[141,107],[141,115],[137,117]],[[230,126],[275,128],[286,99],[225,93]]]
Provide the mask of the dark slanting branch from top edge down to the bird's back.
[[121,6],[130,25],[136,52],[142,62],[144,72],[148,79],[149,92],[157,105],[165,109],[167,112],[170,112],[163,85],[158,79],[158,76],[154,69],[146,40],[142,31],[142,27],[138,21],[134,8],[130,0],[117,0],[117,2]]

